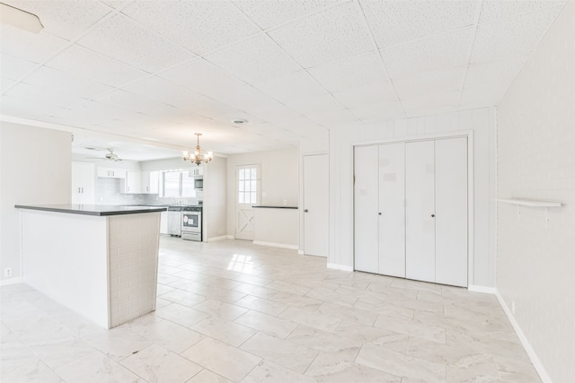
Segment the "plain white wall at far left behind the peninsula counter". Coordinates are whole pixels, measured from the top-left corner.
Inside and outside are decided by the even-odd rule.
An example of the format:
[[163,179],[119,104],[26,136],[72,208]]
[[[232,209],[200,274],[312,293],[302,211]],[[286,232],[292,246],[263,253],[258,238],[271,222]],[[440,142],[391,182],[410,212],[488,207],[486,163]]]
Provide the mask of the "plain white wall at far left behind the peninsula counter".
[[14,205],[69,204],[72,199],[72,135],[0,122],[2,185],[0,280],[4,268],[22,277],[20,212]]

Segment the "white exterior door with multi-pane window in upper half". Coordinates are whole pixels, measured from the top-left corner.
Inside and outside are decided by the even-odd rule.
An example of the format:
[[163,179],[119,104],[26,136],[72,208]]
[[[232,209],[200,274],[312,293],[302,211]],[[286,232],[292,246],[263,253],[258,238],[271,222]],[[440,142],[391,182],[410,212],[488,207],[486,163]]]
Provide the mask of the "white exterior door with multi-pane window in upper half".
[[235,168],[235,238],[253,240],[253,205],[260,202],[260,165]]

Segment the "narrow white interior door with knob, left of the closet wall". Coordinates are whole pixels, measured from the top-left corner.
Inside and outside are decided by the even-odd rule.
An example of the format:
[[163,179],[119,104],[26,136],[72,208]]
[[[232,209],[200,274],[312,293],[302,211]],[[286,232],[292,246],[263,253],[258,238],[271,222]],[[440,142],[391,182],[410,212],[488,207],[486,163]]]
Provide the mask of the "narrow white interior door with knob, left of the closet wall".
[[328,254],[329,173],[327,154],[304,156],[304,253],[310,256]]

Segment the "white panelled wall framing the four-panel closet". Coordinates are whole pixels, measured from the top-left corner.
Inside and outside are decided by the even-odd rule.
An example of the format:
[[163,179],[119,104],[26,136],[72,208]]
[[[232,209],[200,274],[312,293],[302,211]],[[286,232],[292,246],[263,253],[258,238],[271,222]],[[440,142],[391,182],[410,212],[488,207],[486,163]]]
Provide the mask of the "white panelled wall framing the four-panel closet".
[[474,245],[470,285],[495,286],[495,109],[473,109],[374,126],[330,130],[330,254],[328,263],[353,267],[353,145],[392,138],[473,130]]

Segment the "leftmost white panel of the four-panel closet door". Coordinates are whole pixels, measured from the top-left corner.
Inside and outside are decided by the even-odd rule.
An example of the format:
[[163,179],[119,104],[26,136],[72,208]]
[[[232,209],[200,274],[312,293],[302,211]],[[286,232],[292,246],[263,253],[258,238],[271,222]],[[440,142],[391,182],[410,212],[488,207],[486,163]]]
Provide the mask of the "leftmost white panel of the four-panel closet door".
[[355,269],[378,272],[377,146],[355,148]]

